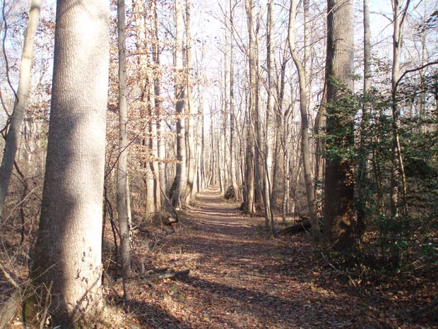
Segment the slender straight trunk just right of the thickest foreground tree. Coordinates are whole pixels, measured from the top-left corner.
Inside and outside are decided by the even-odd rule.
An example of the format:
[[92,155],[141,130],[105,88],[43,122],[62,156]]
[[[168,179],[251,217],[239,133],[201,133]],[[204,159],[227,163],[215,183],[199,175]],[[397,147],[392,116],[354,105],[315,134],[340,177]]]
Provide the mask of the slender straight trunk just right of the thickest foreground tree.
[[129,254],[129,224],[131,207],[129,206],[128,181],[128,106],[127,106],[127,71],[126,71],[126,27],[125,0],[117,1],[118,32],[118,162],[117,162],[117,215],[120,228],[120,260],[122,262],[123,284],[131,271]]

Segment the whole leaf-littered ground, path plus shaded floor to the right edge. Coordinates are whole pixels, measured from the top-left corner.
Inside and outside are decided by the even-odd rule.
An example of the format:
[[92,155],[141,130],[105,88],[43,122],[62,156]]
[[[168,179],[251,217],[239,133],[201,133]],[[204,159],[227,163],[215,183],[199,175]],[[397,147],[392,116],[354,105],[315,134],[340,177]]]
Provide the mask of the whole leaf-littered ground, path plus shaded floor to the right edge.
[[[146,249],[143,234],[155,239]],[[112,328],[438,328],[436,280],[355,282],[308,234],[269,239],[263,218],[243,215],[214,188],[175,232],[139,230],[136,241],[137,267],[190,273],[129,281],[123,313],[121,284],[108,289]]]

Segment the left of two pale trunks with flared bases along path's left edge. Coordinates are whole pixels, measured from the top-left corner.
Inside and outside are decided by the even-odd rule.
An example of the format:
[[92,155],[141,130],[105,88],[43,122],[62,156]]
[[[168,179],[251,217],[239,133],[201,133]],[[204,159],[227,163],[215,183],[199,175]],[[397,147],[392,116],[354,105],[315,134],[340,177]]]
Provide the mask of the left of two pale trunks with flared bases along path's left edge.
[[185,118],[184,118],[184,90],[185,74],[183,68],[183,8],[181,0],[175,0],[175,112],[177,114],[177,168],[175,180],[170,189],[170,202],[175,208],[181,208],[182,197],[185,184],[187,182],[187,173],[185,169]]

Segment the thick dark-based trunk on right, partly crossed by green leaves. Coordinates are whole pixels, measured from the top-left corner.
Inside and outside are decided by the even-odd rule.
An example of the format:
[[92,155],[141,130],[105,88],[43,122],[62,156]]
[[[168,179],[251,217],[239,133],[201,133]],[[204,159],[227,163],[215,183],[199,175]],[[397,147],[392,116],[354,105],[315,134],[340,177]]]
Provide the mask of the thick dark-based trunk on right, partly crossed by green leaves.
[[353,81],[352,0],[328,0],[327,12],[326,137],[330,143],[326,152],[324,239],[343,248],[352,245],[356,229],[353,164],[346,154],[354,146],[346,92],[346,88],[352,89]]

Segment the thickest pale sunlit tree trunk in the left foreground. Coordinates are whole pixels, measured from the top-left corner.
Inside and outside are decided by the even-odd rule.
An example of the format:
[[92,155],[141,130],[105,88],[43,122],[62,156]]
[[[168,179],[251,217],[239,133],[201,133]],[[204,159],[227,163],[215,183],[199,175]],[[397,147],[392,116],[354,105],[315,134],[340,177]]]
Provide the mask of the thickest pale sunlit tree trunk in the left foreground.
[[[51,287],[54,327],[70,328],[102,306],[109,34],[109,0],[57,1],[49,141],[31,270],[35,287]],[[44,298],[44,289],[40,293]],[[27,319],[34,318],[29,310],[36,310],[37,296],[25,301]]]

